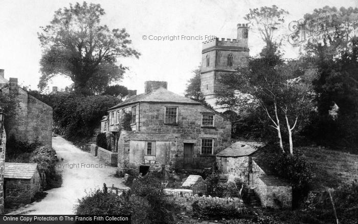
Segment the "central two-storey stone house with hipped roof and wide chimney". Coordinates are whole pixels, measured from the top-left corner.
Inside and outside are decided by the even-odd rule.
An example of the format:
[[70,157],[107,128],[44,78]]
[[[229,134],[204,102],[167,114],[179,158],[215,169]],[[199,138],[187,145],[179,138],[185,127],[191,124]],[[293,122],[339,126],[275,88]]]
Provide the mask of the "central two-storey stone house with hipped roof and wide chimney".
[[[125,113],[131,131],[120,130]],[[204,169],[230,144],[231,122],[202,103],[167,90],[167,82],[146,81],[145,93],[108,109],[103,132],[118,138],[118,167],[141,169]]]

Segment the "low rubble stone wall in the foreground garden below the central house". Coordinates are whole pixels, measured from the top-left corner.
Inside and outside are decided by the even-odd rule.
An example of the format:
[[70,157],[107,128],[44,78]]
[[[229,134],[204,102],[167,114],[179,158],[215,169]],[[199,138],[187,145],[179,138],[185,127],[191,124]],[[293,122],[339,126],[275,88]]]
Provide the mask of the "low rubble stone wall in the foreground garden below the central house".
[[198,201],[199,206],[222,204],[222,205],[232,205],[235,206],[238,210],[243,207],[243,201],[238,198],[221,198],[221,197],[211,197],[211,196],[189,196],[187,194],[182,194],[178,196],[167,196],[168,200],[173,201],[175,204],[180,206],[185,206],[186,210],[191,212],[193,210],[192,204],[195,201]]

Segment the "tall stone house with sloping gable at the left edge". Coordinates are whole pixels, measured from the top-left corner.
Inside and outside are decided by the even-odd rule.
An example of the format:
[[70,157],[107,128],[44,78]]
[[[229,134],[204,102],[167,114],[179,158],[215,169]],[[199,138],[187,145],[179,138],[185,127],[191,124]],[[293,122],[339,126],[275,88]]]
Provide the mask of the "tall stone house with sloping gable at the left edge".
[[35,140],[44,146],[52,147],[52,107],[31,96],[26,89],[18,86],[17,78],[4,78],[0,70],[0,93],[13,94],[19,102],[15,119],[7,130],[7,136],[20,141]]

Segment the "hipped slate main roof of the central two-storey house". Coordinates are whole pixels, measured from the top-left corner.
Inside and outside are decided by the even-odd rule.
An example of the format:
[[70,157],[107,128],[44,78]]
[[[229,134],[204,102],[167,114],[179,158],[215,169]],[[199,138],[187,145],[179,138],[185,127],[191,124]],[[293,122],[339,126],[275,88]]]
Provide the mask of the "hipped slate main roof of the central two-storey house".
[[200,104],[194,100],[183,97],[181,95],[175,94],[168,91],[167,89],[160,87],[154,91],[147,94],[139,94],[132,97],[129,97],[125,101],[117,104],[116,106],[110,107],[110,109],[115,109],[124,105],[137,103],[137,102],[162,102],[162,103],[183,103],[183,104]]

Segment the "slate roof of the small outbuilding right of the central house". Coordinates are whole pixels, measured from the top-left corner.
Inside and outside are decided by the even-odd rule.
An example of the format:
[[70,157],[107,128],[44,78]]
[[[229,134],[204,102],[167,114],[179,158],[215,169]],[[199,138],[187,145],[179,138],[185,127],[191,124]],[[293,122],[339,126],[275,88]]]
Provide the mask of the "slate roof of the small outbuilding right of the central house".
[[260,142],[234,142],[231,146],[217,153],[217,156],[238,157],[251,155],[263,146]]

